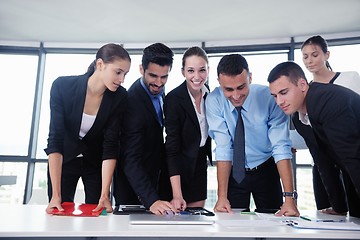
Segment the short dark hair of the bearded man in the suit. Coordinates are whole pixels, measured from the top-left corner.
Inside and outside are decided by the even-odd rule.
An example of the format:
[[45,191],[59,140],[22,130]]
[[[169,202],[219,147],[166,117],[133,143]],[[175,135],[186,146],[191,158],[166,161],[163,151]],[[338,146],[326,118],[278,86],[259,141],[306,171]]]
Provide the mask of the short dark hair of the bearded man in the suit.
[[171,68],[173,57],[174,53],[169,47],[162,43],[154,43],[144,49],[141,65],[144,71],[150,63],[155,63],[160,66],[170,66]]

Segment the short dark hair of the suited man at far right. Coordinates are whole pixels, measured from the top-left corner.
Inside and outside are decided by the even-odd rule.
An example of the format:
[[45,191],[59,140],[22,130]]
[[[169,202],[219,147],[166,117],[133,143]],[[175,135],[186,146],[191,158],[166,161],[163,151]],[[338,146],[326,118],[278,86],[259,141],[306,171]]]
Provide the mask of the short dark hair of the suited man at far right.
[[269,73],[268,82],[272,83],[282,76],[290,78],[290,81],[297,85],[300,78],[306,80],[305,73],[299,65],[292,61],[282,62],[276,65]]

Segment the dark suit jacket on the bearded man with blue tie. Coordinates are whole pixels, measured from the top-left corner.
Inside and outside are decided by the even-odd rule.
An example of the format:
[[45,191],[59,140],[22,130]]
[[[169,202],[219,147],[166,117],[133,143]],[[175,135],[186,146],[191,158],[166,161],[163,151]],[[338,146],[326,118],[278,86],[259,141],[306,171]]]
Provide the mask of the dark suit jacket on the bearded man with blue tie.
[[121,147],[121,164],[116,172],[115,199],[116,205],[120,205],[138,204],[139,198],[149,208],[160,199],[159,177],[161,169],[166,169],[166,163],[163,127],[140,81],[141,78],[128,90],[128,108],[122,126],[124,144]]

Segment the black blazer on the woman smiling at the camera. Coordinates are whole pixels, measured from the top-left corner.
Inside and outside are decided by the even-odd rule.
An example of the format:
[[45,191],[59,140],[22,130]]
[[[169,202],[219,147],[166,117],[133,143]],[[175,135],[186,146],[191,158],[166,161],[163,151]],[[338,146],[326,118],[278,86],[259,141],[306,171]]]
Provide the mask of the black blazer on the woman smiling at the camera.
[[211,139],[207,138],[206,155],[198,159],[201,141],[200,125],[189,96],[186,81],[169,92],[164,103],[166,129],[166,160],[169,176],[181,175],[181,181],[191,183],[197,161],[207,164],[211,157]]

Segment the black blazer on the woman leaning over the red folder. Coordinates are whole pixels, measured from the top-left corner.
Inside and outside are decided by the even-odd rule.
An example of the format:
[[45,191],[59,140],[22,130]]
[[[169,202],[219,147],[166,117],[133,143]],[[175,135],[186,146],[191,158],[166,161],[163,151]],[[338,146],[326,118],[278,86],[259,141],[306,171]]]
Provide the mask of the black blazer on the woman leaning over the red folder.
[[83,139],[79,138],[90,74],[57,78],[50,92],[50,129],[46,154],[61,153],[64,162],[80,153],[87,161],[101,166],[102,160],[117,159],[119,129],[126,108],[127,93],[123,87],[106,90],[94,125]]

